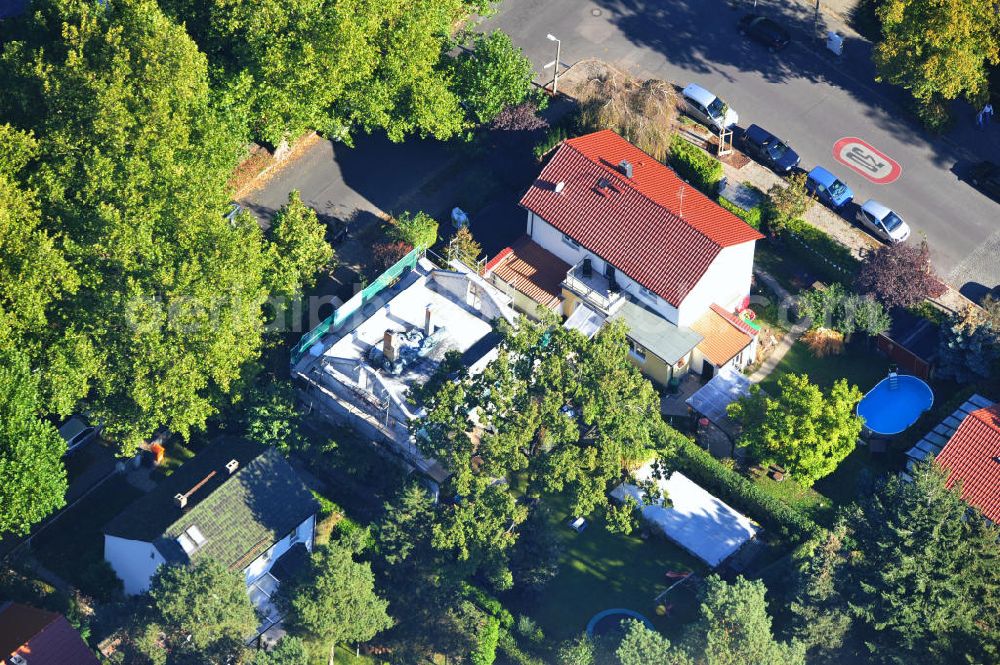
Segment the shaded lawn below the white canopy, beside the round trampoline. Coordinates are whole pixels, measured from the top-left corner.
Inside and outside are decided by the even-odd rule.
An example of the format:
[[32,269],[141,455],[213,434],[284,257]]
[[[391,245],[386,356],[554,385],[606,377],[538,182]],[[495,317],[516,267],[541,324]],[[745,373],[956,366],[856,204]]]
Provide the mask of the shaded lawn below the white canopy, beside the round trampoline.
[[602,519],[590,520],[583,533],[567,526],[569,502],[562,497],[543,499],[552,508],[550,527],[563,546],[559,574],[530,602],[512,602],[515,614],[535,619],[549,640],[579,635],[590,618],[601,610],[622,607],[640,612],[665,634],[676,637],[679,627],[694,618],[693,594],[675,589],[665,599],[673,604],[669,618],[656,615],[654,598],[670,583],[669,570],[694,570],[705,566],[673,543],[661,538],[643,540],[607,531]]

